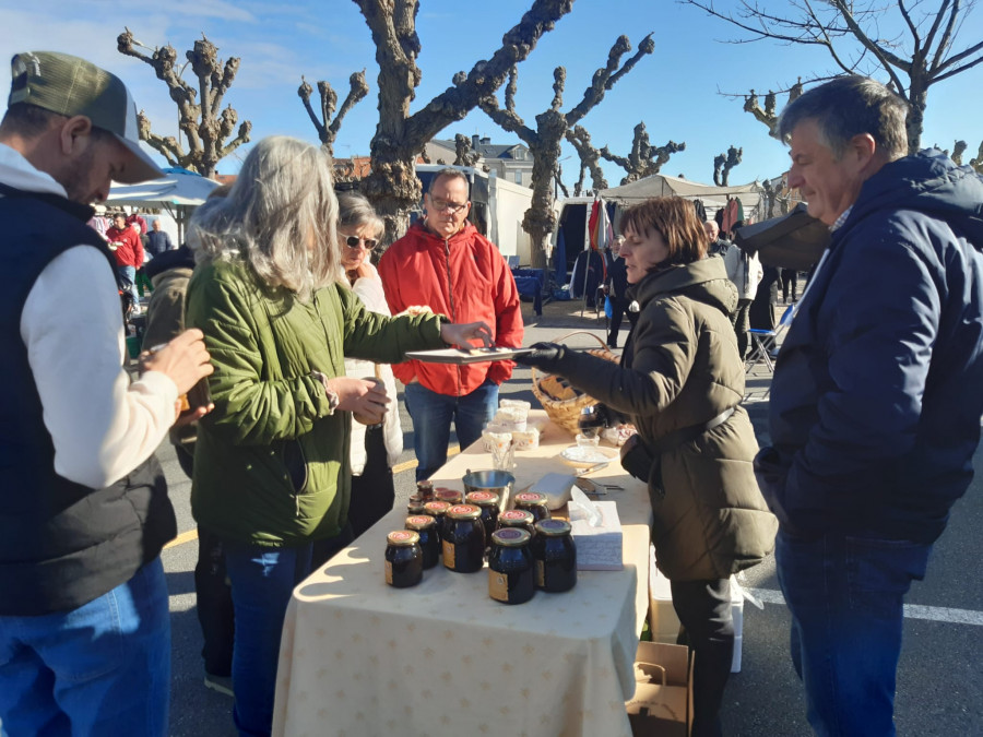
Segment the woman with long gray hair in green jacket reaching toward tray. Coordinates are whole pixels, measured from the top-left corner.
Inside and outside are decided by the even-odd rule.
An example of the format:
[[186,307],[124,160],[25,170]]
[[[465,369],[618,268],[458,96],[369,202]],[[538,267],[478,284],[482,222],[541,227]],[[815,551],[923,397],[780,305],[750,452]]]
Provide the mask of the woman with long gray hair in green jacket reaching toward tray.
[[225,544],[242,735],[270,732],[283,617],[313,544],[351,539],[351,415],[378,423],[390,403],[381,385],[345,376],[344,356],[393,362],[490,336],[484,323],[366,311],[344,284],[336,219],[330,158],[274,136],[191,223],[187,322],[204,332],[215,367],[191,510]]

